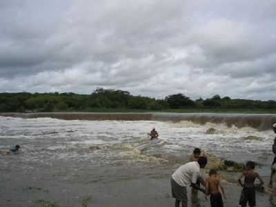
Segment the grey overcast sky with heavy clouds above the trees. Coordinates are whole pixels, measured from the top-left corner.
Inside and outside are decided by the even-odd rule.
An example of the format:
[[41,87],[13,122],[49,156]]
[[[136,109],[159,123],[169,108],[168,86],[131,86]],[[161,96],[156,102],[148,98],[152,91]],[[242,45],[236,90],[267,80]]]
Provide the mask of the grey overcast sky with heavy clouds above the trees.
[[0,0],[0,92],[276,99],[275,0]]

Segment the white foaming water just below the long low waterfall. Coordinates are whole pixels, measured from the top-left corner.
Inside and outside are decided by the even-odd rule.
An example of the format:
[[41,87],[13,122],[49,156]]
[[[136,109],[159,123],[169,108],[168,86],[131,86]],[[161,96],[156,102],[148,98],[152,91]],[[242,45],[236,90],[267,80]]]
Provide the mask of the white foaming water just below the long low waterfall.
[[[159,138],[166,144],[159,146],[146,142],[147,132],[155,127],[159,132]],[[208,152],[224,158],[258,159],[271,154],[271,145],[275,135],[272,131],[262,131],[250,127],[237,128],[228,127],[224,124],[207,123],[205,125],[194,124],[191,121],[180,121],[177,123],[164,121],[66,121],[61,119],[37,118],[21,119],[0,117],[0,140],[1,148],[10,148],[20,144],[25,149],[32,151],[30,159],[35,155],[43,154],[43,149],[53,150],[52,157],[69,159],[81,156],[90,159],[93,155],[101,155],[104,161],[114,160],[118,155],[117,150],[109,148],[110,152],[81,152],[79,148],[89,148],[94,145],[108,146],[110,144],[131,144],[133,147],[150,148],[148,152],[161,150],[161,153],[175,154],[192,151],[194,147],[202,148]],[[214,128],[214,134],[207,134],[209,128]],[[244,139],[244,137],[255,136],[259,140]],[[146,146],[145,146],[146,144]],[[148,147],[147,145],[150,145]],[[141,150],[139,148],[139,150]],[[70,150],[66,150],[70,149]],[[112,152],[114,150],[114,152]],[[106,153],[106,154],[105,154]],[[256,157],[257,156],[257,157]],[[112,159],[111,159],[112,157]],[[237,157],[235,159],[238,159]]]

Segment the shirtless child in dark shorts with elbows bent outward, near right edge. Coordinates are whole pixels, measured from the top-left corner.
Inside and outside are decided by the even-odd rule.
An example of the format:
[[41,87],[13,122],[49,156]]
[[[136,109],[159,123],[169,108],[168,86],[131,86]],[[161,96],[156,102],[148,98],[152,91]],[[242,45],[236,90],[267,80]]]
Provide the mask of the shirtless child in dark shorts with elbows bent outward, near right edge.
[[[253,161],[248,161],[246,163],[246,168],[242,175],[239,177],[239,184],[243,187],[242,188],[242,195],[239,199],[239,205],[245,207],[247,202],[250,207],[256,206],[256,199],[255,199],[255,179],[259,179],[260,184],[258,186],[263,186],[264,181],[259,177],[259,173],[254,171],[255,163]],[[244,177],[244,184],[242,184],[242,178]]]

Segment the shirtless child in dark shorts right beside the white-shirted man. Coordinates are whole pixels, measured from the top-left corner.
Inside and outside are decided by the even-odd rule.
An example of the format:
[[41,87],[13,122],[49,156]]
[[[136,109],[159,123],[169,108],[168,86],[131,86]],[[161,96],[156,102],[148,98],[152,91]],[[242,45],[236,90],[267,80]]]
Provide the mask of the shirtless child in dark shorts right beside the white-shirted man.
[[221,178],[217,170],[211,169],[209,172],[209,177],[206,179],[206,199],[210,194],[210,204],[211,207],[224,207],[224,201],[222,200],[221,193],[225,197],[224,188],[221,186]]

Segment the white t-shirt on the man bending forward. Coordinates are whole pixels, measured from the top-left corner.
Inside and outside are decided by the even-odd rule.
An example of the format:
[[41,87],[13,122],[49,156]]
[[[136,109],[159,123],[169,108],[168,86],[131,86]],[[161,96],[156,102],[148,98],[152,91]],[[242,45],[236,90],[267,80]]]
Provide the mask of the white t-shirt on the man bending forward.
[[172,174],[174,179],[179,186],[190,186],[191,183],[196,183],[199,177],[200,167],[197,161],[190,161],[183,166],[180,166]]

